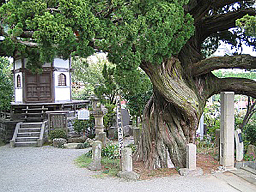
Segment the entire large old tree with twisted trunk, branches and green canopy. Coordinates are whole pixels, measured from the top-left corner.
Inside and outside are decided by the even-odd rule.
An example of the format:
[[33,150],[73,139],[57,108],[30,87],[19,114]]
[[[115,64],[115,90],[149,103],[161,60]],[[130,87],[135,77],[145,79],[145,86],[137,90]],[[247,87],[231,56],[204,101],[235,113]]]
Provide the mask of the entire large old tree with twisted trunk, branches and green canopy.
[[[2,1],[1,1],[2,2]],[[236,20],[255,15],[252,1],[234,0],[10,0],[0,8],[1,54],[29,56],[38,49],[41,62],[58,55],[86,57],[108,52],[122,76],[141,67],[154,93],[145,107],[136,157],[147,168],[186,165],[186,143],[195,131],[206,100],[232,91],[256,97],[250,79],[222,78],[218,68],[255,68],[249,55],[204,59],[202,48],[218,40],[253,44]],[[236,33],[239,32],[239,33]],[[2,38],[3,39],[3,38]],[[209,43],[210,42],[210,43]],[[211,47],[210,47],[211,48]],[[35,52],[35,51],[34,51]],[[31,55],[31,52],[30,52]]]

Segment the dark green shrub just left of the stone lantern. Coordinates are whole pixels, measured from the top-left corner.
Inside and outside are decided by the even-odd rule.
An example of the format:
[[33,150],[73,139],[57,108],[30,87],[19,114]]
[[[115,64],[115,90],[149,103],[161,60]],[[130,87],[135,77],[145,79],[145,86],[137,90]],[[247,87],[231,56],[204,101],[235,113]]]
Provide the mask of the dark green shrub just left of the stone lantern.
[[79,120],[76,118],[73,126],[75,132],[84,133],[86,137],[91,139],[95,137],[94,117],[92,115],[89,120]]

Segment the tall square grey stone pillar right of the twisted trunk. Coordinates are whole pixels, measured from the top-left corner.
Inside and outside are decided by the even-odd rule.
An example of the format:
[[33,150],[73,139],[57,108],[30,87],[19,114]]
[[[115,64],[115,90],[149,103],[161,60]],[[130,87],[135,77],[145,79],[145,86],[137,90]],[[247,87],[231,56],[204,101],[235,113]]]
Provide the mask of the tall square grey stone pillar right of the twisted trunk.
[[234,168],[234,92],[221,92],[220,164]]

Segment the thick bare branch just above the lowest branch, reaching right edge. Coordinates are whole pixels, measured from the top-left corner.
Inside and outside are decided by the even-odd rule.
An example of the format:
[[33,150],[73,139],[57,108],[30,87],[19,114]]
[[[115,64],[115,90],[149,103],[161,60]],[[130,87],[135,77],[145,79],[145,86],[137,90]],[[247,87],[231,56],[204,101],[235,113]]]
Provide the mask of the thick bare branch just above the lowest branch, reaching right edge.
[[220,68],[256,68],[256,57],[242,54],[208,58],[195,63],[189,70],[192,76],[201,76]]

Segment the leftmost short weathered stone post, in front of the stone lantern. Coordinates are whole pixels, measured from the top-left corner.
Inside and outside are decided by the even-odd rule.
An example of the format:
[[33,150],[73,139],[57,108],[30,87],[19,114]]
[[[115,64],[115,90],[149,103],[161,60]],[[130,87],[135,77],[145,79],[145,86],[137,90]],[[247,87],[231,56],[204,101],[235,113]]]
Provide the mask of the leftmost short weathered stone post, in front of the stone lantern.
[[102,150],[102,142],[101,141],[93,141],[92,144],[92,163],[89,164],[89,170],[101,170],[101,150]]

